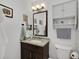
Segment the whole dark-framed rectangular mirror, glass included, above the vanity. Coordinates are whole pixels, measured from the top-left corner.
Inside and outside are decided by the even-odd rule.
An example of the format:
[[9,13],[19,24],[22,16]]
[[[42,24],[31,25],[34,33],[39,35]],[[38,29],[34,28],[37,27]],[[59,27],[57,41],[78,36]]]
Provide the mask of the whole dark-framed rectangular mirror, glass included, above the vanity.
[[48,13],[41,11],[33,14],[33,35],[48,36]]

